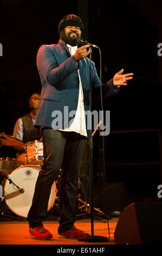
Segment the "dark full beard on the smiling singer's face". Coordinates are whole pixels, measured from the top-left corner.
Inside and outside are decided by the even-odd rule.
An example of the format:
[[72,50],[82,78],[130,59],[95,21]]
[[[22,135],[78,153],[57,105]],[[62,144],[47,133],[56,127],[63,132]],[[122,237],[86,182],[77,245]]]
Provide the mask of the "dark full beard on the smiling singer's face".
[[73,31],[73,29],[66,35],[64,28],[62,28],[60,31],[60,39],[68,45],[76,46],[79,43],[80,35],[76,31]]

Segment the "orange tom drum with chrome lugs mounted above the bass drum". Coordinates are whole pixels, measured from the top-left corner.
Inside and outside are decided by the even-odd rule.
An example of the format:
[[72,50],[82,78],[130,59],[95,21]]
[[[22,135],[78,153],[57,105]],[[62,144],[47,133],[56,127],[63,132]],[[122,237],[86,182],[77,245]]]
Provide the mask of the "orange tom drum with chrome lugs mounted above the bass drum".
[[42,141],[30,141],[26,143],[27,163],[43,166],[43,143]]

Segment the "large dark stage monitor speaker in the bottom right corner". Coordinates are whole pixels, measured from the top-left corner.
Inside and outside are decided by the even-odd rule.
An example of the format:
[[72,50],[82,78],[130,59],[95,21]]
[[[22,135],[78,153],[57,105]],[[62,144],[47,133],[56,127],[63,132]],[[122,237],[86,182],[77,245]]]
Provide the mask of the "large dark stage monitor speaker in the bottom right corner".
[[116,224],[116,245],[161,245],[162,203],[133,203]]

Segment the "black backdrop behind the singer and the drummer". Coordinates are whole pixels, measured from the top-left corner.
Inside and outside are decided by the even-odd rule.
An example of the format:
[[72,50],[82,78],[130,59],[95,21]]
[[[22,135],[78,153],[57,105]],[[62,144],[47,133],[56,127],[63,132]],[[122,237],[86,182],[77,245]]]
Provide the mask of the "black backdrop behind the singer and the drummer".
[[[103,100],[111,110],[105,138],[107,182],[122,182],[130,196],[157,197],[161,170],[162,4],[160,1],[1,0],[3,57],[0,57],[0,132],[12,135],[15,122],[29,112],[28,97],[41,92],[36,54],[42,44],[57,44],[58,24],[67,14],[85,24],[83,38],[101,49],[102,82],[124,68],[133,72],[128,86]],[[92,59],[100,74],[99,51]],[[93,102],[100,109],[100,102]],[[126,131],[126,132],[125,132]],[[94,182],[102,182],[100,138],[94,136]],[[10,147],[1,157],[15,157]]]

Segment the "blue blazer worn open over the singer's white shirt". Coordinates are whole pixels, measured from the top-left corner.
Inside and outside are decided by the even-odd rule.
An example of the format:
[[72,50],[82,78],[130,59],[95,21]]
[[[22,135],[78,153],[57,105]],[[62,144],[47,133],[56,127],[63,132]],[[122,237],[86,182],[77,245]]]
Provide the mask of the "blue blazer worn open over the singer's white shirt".
[[[83,88],[83,100],[85,111],[89,109],[89,59],[86,57],[76,64],[75,58],[70,55],[66,43],[59,40],[57,45],[42,45],[37,52],[37,69],[41,78],[42,91],[40,109],[35,120],[35,127],[51,127],[54,120],[53,111],[64,113],[64,106],[68,106],[68,113],[76,111],[79,97],[79,77]],[[100,96],[100,79],[96,72],[95,64],[92,62],[92,91],[93,96]],[[116,94],[112,80],[102,84],[104,97]],[[69,118],[72,119],[74,117]],[[64,118],[62,119],[63,127]],[[87,125],[87,124],[86,124]],[[89,134],[89,132],[87,131]]]

